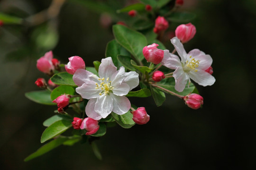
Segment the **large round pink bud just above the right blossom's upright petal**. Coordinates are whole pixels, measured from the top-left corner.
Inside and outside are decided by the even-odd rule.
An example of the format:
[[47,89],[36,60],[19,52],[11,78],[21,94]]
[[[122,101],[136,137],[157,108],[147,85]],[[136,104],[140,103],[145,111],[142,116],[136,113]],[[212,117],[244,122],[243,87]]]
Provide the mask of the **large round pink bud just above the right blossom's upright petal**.
[[196,33],[196,28],[191,23],[182,24],[178,26],[175,30],[175,35],[183,43],[190,41]]

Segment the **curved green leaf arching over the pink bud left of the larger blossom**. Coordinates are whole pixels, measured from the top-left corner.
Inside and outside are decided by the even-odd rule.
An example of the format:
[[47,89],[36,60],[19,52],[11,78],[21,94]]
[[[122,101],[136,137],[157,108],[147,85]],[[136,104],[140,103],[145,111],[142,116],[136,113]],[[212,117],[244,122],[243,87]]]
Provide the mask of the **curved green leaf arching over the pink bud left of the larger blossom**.
[[51,99],[55,100],[57,97],[59,97],[62,94],[70,94],[73,95],[75,93],[75,90],[72,86],[69,85],[60,85],[56,87],[52,93],[51,93]]

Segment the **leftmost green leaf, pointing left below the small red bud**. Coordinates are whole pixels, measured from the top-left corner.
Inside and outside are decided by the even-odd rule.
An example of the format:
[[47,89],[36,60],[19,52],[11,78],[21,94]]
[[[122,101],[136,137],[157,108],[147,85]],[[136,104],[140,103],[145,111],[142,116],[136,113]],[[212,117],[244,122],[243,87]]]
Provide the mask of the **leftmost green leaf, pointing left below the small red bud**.
[[52,102],[51,92],[48,90],[27,92],[25,93],[25,96],[33,102],[46,105],[56,105],[56,103]]

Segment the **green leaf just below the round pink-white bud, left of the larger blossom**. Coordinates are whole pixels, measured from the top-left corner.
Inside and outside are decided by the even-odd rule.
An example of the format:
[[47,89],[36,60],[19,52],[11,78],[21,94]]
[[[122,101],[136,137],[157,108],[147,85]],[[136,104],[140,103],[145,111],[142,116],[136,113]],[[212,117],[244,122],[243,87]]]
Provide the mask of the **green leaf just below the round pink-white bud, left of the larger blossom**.
[[51,80],[56,85],[76,86],[76,84],[73,81],[73,75],[71,75],[67,72],[62,72],[62,73],[55,74],[51,77]]

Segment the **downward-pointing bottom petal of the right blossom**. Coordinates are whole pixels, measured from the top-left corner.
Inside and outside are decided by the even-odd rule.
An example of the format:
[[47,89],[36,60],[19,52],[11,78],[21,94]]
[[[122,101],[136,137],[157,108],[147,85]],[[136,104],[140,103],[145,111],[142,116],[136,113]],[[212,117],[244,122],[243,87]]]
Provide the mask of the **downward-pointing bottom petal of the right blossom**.
[[174,78],[175,78],[175,90],[178,92],[182,92],[187,84],[187,81],[189,80],[189,76],[187,73],[183,71],[183,68],[178,67],[174,71]]

